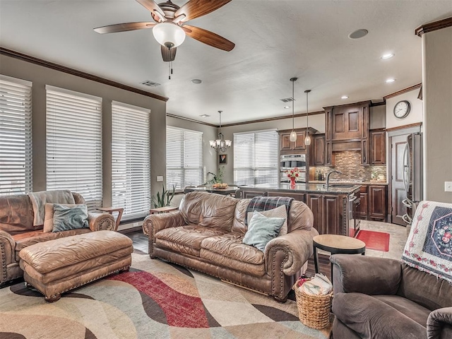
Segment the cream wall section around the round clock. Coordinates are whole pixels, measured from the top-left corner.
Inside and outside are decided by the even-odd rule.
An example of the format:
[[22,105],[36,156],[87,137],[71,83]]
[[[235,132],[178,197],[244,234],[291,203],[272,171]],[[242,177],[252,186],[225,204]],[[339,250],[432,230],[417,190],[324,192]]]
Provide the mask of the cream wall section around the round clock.
[[[415,90],[410,90],[407,93],[396,95],[395,97],[390,97],[386,100],[386,128],[391,129],[393,127],[422,122],[422,100],[417,99],[419,91],[420,89],[416,88]],[[398,119],[394,116],[394,106],[396,106],[397,102],[400,100],[407,100],[411,105],[410,114],[403,119]]]

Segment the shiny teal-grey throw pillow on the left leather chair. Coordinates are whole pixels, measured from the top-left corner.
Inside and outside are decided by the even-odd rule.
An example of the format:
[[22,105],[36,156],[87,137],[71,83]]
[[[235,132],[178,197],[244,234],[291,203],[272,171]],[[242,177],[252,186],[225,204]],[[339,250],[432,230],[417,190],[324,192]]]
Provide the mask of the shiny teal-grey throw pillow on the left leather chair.
[[88,228],[88,208],[86,205],[73,207],[54,204],[54,227],[52,232]]

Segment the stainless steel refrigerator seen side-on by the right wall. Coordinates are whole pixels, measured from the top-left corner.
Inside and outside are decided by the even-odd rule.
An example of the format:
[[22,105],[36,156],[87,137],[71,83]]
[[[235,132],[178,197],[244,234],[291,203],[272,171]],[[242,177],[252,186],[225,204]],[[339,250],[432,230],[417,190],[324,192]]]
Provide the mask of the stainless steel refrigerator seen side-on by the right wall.
[[403,185],[407,198],[403,205],[407,213],[403,220],[411,225],[412,216],[415,214],[417,204],[422,201],[422,133],[411,133],[407,137],[407,143],[403,152]]

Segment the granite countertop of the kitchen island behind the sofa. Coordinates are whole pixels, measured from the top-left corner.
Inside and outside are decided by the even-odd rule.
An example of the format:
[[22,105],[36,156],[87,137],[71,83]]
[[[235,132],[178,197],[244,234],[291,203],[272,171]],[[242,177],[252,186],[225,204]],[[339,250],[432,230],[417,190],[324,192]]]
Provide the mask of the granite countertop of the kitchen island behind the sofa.
[[243,186],[239,187],[240,189],[262,189],[266,191],[290,191],[290,192],[299,192],[299,193],[328,193],[328,194],[352,194],[356,192],[361,185],[359,184],[333,184],[330,183],[330,186],[326,188],[325,184],[295,184],[295,189],[290,188],[290,184],[257,184],[254,186]]

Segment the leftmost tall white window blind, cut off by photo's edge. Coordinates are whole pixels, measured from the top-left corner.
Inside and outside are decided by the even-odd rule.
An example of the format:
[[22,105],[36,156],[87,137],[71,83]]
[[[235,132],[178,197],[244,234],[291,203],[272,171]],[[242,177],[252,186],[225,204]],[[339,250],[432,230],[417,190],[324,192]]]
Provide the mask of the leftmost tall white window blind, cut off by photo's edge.
[[0,195],[32,191],[31,86],[0,75]]

